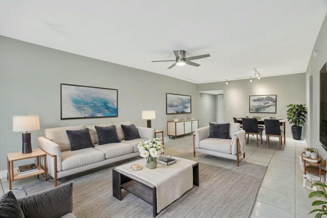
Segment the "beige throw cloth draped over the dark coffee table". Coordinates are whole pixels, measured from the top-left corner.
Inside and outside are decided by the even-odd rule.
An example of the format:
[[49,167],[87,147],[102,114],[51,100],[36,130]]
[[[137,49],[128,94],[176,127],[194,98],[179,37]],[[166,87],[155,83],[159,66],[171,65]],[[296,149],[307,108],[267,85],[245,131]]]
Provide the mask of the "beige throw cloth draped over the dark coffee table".
[[[193,187],[193,167],[195,161],[174,157],[177,163],[166,166],[159,164],[155,169],[146,166],[146,159],[136,160],[116,167],[120,171],[143,179],[157,188],[157,212],[179,199]],[[132,171],[130,166],[138,164],[141,171]]]

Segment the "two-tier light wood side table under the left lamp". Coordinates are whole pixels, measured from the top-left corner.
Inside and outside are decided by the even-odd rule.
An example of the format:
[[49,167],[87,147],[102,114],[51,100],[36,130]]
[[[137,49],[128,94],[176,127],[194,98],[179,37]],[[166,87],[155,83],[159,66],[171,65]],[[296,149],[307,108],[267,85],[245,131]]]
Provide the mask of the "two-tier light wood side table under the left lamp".
[[[44,169],[39,165],[39,157],[44,156]],[[37,168],[39,171],[27,175],[19,175],[18,170],[14,171],[14,164],[13,162],[16,160],[24,160],[28,158],[37,157]],[[38,176],[40,174],[44,174],[44,180],[46,181],[46,153],[43,152],[41,149],[33,149],[32,153],[23,154],[21,152],[12,152],[7,154],[7,165],[8,165],[8,180],[9,180],[9,189],[11,190],[11,182],[25,179],[32,176]]]

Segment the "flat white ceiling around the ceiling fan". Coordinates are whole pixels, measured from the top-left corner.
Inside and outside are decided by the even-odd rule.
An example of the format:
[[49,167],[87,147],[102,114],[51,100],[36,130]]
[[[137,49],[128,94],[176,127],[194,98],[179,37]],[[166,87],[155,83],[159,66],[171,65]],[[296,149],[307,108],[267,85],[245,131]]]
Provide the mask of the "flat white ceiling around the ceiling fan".
[[[326,0],[0,0],[0,35],[205,83],[305,72]],[[199,67],[167,69],[173,50]],[[189,79],[188,79],[189,78]]]

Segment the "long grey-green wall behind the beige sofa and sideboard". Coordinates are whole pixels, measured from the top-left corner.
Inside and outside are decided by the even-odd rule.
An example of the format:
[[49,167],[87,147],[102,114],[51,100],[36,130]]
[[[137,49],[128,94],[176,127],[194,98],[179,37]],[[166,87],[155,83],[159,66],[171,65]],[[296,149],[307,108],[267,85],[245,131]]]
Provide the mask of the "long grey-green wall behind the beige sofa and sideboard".
[[[174,117],[166,115],[167,92],[192,95],[192,114],[181,115],[184,119],[199,118],[200,127],[215,120],[215,96],[200,98],[196,84],[4,36],[0,47],[0,171],[7,167],[6,153],[21,150],[21,133],[12,132],[13,115],[39,115],[33,148],[45,128],[123,121],[145,126],[142,110],[155,110],[152,127],[167,134],[167,120]],[[118,89],[119,117],[60,120],[60,83]]]

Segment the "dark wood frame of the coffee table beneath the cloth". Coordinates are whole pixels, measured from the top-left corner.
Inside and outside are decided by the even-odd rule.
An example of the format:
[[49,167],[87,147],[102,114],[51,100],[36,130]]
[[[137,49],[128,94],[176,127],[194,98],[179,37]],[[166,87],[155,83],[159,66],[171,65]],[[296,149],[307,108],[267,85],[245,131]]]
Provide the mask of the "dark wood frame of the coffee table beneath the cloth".
[[[200,185],[199,163],[193,165],[193,184],[196,186]],[[135,178],[131,178],[130,176],[117,171],[116,169],[112,169],[112,196],[120,201],[122,200],[122,188],[152,205],[153,217],[158,214],[157,188],[155,186],[151,187],[142,181],[138,181]]]

